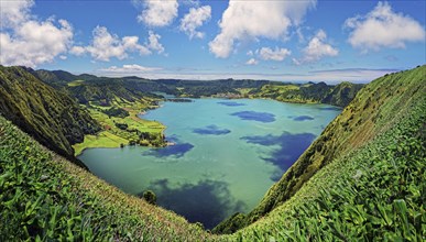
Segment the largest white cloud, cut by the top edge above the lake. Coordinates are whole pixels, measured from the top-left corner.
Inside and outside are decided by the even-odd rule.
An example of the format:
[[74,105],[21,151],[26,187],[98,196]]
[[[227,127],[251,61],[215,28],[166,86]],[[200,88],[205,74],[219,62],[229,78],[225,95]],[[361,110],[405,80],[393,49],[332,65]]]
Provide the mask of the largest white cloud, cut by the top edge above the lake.
[[239,1],[230,0],[219,21],[220,33],[209,43],[216,57],[230,55],[237,41],[287,35],[288,28],[298,25],[316,0],[306,1]]

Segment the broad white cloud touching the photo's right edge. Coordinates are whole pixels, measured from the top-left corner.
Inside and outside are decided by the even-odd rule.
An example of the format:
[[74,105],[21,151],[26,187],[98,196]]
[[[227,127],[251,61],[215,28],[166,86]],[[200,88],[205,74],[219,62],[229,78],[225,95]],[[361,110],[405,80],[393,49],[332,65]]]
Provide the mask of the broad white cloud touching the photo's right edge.
[[362,52],[404,48],[406,42],[425,41],[424,28],[411,16],[392,11],[387,2],[379,2],[367,15],[347,19],[345,28],[352,30],[348,42]]

